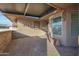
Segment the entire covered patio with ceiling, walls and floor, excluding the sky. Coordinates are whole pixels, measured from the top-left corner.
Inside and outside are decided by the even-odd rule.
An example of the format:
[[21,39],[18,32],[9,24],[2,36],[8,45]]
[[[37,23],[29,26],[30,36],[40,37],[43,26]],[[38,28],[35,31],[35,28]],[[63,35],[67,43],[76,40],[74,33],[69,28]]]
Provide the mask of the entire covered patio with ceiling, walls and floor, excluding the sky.
[[78,5],[0,4],[1,15],[12,23],[0,25],[0,55],[77,56]]

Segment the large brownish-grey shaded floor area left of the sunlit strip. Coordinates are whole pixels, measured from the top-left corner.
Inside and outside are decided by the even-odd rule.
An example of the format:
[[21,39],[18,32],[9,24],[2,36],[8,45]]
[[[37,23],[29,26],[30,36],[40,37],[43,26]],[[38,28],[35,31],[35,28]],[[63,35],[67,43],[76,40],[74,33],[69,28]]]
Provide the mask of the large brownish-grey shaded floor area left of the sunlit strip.
[[29,37],[18,32],[14,32],[13,38],[5,49],[8,56],[47,56],[46,38]]

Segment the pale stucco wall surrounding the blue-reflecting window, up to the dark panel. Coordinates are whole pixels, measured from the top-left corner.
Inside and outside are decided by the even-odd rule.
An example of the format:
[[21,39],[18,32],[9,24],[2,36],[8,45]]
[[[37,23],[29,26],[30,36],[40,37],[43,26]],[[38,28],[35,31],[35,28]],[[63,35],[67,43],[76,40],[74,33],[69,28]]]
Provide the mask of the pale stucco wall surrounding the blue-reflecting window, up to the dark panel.
[[[50,27],[51,28],[51,18],[53,17],[62,17],[62,35],[54,35],[51,31],[51,36],[55,37],[56,39],[59,39],[61,41],[61,44],[64,46],[76,46],[77,40],[75,40],[76,37],[71,36],[71,10],[66,10],[64,12],[57,13],[55,15],[52,15],[49,19]],[[51,28],[52,30],[52,28]],[[54,36],[53,36],[54,35]]]

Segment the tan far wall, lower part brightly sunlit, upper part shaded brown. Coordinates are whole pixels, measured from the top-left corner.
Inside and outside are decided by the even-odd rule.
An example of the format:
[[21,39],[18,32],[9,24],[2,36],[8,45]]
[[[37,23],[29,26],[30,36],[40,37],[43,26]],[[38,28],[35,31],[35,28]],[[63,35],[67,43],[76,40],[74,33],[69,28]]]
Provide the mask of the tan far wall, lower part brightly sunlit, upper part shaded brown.
[[19,19],[17,22],[17,32],[27,36],[43,36],[45,32],[40,29],[40,24],[34,22],[36,21]]

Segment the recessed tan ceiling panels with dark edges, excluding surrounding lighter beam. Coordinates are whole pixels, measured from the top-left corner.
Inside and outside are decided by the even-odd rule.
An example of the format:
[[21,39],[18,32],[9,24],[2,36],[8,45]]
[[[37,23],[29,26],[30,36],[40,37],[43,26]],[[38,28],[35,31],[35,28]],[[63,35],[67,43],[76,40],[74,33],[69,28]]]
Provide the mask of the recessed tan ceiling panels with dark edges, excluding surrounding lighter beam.
[[55,11],[56,8],[45,3],[4,3],[0,4],[0,10],[4,13],[42,17]]

